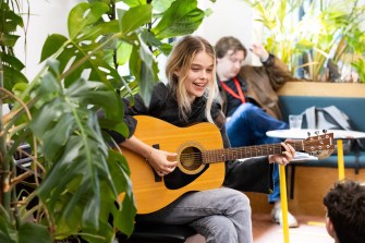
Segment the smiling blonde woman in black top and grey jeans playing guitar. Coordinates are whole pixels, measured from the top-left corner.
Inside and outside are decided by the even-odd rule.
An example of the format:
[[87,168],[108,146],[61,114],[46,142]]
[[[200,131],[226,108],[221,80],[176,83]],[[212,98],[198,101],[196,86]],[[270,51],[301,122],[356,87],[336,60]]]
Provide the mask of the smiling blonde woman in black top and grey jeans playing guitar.
[[[168,84],[160,82],[154,87],[149,105],[146,106],[138,95],[135,96],[133,106],[127,99],[123,99],[129,137],[113,131],[110,134],[122,147],[146,158],[146,162],[160,177],[175,169],[178,162],[169,161],[168,157],[177,155],[156,149],[138,139],[134,135],[137,124],[133,116],[151,116],[177,126],[211,122],[220,130],[224,147],[229,147],[226,119],[220,105],[215,100],[215,72],[216,56],[212,46],[202,37],[183,37],[175,44],[167,61]],[[222,187],[186,193],[157,211],[137,215],[136,222],[190,224],[208,243],[252,243],[250,199],[239,191],[267,193],[270,187],[270,163],[287,165],[295,154],[290,144],[282,143],[282,147],[281,155],[251,158],[245,162],[226,161]]]

